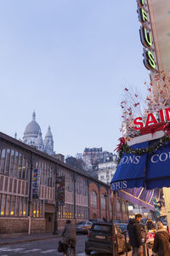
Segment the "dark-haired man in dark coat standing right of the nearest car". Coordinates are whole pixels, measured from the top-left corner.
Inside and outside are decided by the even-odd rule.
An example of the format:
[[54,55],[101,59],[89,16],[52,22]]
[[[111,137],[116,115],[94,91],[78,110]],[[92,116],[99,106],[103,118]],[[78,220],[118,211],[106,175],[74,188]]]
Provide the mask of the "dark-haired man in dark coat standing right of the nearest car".
[[133,247],[132,256],[143,255],[143,241],[142,241],[142,230],[139,222],[142,219],[142,215],[137,213],[135,218],[130,218],[127,224],[128,236],[131,246]]

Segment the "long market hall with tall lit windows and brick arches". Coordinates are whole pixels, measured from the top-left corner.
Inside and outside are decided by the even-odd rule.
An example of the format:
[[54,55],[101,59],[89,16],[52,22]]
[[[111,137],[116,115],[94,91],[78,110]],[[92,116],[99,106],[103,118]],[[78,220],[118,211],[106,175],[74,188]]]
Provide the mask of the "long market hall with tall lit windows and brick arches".
[[[112,218],[110,186],[59,159],[0,132],[0,233],[55,232],[68,218]],[[127,219],[127,202],[116,200],[115,217]]]

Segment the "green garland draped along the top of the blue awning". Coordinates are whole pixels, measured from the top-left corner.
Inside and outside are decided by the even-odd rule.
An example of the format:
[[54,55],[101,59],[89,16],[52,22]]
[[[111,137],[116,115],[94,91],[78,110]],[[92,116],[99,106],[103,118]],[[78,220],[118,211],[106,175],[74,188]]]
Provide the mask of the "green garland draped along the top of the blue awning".
[[159,141],[155,144],[153,144],[152,146],[149,146],[148,148],[130,148],[127,143],[124,143],[122,145],[122,147],[119,150],[119,156],[118,156],[118,160],[117,160],[117,165],[119,163],[119,161],[122,158],[122,154],[145,154],[145,153],[154,153],[156,150],[158,150],[159,148],[163,147],[166,143],[170,143],[170,138],[168,137],[168,135],[164,135],[163,137],[161,137],[159,139]]

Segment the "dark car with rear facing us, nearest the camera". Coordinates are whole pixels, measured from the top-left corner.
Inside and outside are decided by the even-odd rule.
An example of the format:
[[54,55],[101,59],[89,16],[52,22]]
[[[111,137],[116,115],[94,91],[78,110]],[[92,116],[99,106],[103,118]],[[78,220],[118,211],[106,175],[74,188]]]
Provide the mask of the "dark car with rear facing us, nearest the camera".
[[[125,236],[122,230],[115,225],[117,234],[118,252],[125,252]],[[88,240],[85,242],[85,253],[90,254],[92,251],[98,253],[112,253],[113,251],[112,224],[101,222],[94,223],[91,230],[88,231]]]

